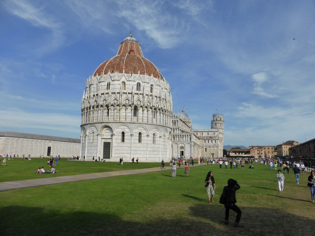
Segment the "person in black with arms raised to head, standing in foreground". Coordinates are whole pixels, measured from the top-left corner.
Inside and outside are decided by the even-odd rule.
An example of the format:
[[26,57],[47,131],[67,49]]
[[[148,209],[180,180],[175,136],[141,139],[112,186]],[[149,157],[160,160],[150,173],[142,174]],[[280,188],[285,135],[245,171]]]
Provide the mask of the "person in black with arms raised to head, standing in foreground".
[[235,225],[234,227],[243,227],[243,225],[239,225],[239,221],[241,219],[242,211],[238,208],[236,203],[235,192],[240,189],[241,186],[234,179],[229,179],[227,181],[227,186],[223,188],[223,193],[226,196],[224,207],[225,207],[225,224],[229,224],[229,211],[235,211],[237,213]]

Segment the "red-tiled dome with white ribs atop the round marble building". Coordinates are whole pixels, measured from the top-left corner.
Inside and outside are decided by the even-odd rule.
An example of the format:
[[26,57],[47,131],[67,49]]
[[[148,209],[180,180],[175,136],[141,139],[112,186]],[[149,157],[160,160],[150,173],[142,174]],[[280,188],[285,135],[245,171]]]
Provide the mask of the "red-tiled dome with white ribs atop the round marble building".
[[164,80],[162,74],[151,61],[143,57],[138,41],[130,36],[125,38],[118,49],[117,55],[101,64],[94,76],[108,73],[126,73],[153,76]]

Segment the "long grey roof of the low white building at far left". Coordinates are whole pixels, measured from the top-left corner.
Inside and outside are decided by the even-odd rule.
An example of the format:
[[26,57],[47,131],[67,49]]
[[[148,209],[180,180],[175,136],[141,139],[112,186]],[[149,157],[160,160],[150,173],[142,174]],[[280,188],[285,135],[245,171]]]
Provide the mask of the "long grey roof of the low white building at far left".
[[10,131],[0,131],[0,137],[15,137],[15,138],[32,138],[32,139],[43,139],[43,140],[51,140],[51,141],[61,141],[61,142],[69,142],[69,143],[81,143],[81,139],[77,138],[63,138],[63,137],[55,137],[41,134],[30,134],[30,133],[19,133],[19,132],[10,132]]

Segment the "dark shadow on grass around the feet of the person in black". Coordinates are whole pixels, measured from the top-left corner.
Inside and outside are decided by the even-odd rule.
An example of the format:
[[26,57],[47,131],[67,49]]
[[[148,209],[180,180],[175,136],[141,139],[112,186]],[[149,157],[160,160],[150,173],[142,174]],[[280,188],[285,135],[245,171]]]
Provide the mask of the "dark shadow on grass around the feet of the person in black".
[[[229,211],[229,225],[224,224],[225,207],[221,204],[198,204],[189,207],[189,210],[194,217],[201,217],[209,221],[209,229],[213,235],[278,235],[287,236],[288,232],[279,230],[281,228],[290,228],[295,224],[303,224],[307,222],[306,228],[303,227],[303,232],[296,231],[296,235],[305,235],[312,233],[312,224],[315,223],[313,218],[307,216],[297,217],[294,213],[288,213],[274,208],[261,207],[242,207],[238,205],[242,211],[240,224],[244,228],[234,228],[236,213]],[[266,224],[270,220],[277,221],[276,224]],[[304,222],[304,223],[303,223]],[[199,227],[200,224],[198,224]],[[214,226],[214,228],[212,228]],[[196,228],[198,228],[196,227]],[[215,228],[219,228],[216,231]],[[305,232],[304,232],[305,229]],[[276,232],[276,233],[275,233]],[[306,233],[307,232],[307,233]],[[198,235],[198,234],[196,234]],[[201,234],[203,235],[203,234]],[[204,234],[206,235],[206,234]],[[208,234],[209,235],[209,234]]]

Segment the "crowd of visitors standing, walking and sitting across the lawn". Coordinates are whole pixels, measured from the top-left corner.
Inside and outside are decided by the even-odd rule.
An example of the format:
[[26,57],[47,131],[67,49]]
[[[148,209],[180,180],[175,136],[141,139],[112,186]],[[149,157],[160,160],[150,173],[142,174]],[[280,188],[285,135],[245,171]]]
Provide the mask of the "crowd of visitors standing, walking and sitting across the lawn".
[[[11,155],[10,155],[11,156]],[[15,157],[15,155],[14,155]],[[24,157],[24,155],[23,155]],[[4,159],[3,159],[3,164],[2,166],[6,166],[6,160],[8,158],[8,154],[4,155]],[[16,156],[16,158],[18,158],[18,155]],[[42,157],[41,157],[42,158]],[[74,157],[72,156],[72,159],[79,159],[79,157]],[[85,159],[85,158],[84,158]],[[93,157],[94,159],[94,157]],[[57,173],[58,171],[56,171],[55,166],[58,163],[58,160],[60,160],[60,156],[56,156],[55,158],[49,158],[47,160],[47,165],[51,168],[50,171],[45,171],[44,167],[38,167],[37,172],[39,174],[51,174],[51,173]],[[95,160],[97,160],[95,158]],[[100,161],[100,157],[99,157],[99,161]],[[139,158],[136,159],[136,162],[138,163]],[[176,161],[178,162],[178,165],[176,163]],[[300,183],[299,180],[299,175],[301,173],[305,172],[306,167],[313,167],[311,162],[305,162],[301,161],[301,160],[281,160],[281,159],[274,159],[274,158],[258,158],[258,159],[254,159],[254,158],[246,158],[246,159],[242,159],[242,158],[234,158],[234,159],[227,159],[227,158],[203,158],[203,157],[190,157],[190,158],[185,158],[185,157],[177,157],[174,158],[172,157],[170,159],[170,166],[172,169],[172,177],[176,177],[176,169],[177,166],[183,166],[184,167],[184,174],[186,175],[186,177],[188,177],[189,175],[189,166],[190,163],[193,166],[194,165],[194,161],[195,163],[198,162],[198,165],[202,164],[205,165],[205,162],[207,162],[207,165],[209,164],[217,164],[219,165],[219,168],[222,168],[223,164],[225,165],[225,168],[228,169],[228,166],[230,166],[230,169],[236,169],[238,168],[238,165],[241,166],[242,169],[244,169],[245,165],[250,165],[249,168],[250,169],[254,169],[255,167],[253,166],[253,162],[255,164],[257,163],[261,163],[261,164],[265,164],[266,166],[269,166],[268,169],[270,168],[271,171],[277,171],[278,174],[276,174],[276,178],[278,180],[278,189],[280,192],[284,191],[284,181],[285,181],[285,174],[289,174],[290,172],[290,168],[293,172],[293,174],[295,175],[295,179],[296,179],[296,184]],[[0,162],[1,162],[1,156],[0,156]],[[120,158],[119,160],[119,164],[123,165],[123,158]],[[135,164],[135,158],[132,158],[132,164]],[[165,165],[165,161],[162,160],[161,162],[162,166]],[[283,173],[282,173],[283,170]],[[213,172],[209,171],[208,174],[206,175],[205,178],[205,188],[206,188],[206,192],[207,192],[207,196],[208,196],[208,200],[209,200],[209,204],[214,202],[214,196],[215,196],[215,189],[216,189],[216,185],[215,185],[215,178],[213,176]],[[310,188],[310,192],[311,192],[311,200],[312,203],[314,203],[314,198],[315,198],[315,172],[312,170],[310,172],[310,176],[308,177],[307,180],[307,186]],[[238,184],[238,182],[234,179],[229,179],[227,181],[227,186],[225,186],[223,188],[223,192],[221,195],[221,198],[223,200],[221,200],[220,198],[220,203],[224,204],[225,207],[225,224],[229,224],[229,211],[235,211],[237,213],[236,216],[236,220],[234,223],[235,227],[243,227],[242,225],[239,224],[240,222],[240,218],[242,215],[242,211],[238,208],[238,206],[235,204],[236,203],[236,191],[240,189],[240,185]]]

